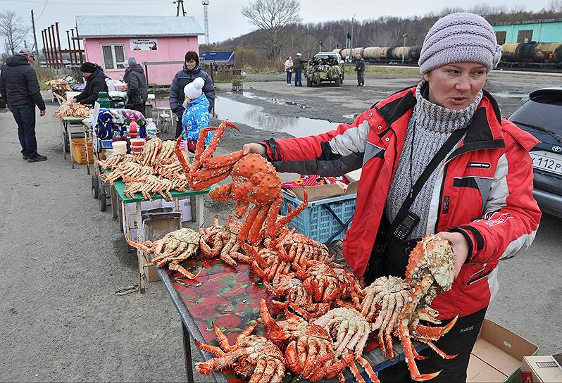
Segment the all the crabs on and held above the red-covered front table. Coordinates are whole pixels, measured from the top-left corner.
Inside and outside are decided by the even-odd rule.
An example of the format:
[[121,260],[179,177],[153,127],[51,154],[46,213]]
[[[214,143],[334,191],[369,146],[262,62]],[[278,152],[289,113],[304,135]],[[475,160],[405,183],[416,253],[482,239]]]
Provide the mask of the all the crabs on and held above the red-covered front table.
[[[330,255],[324,244],[287,226],[306,207],[306,197],[287,216],[278,215],[280,180],[270,163],[242,151],[211,158],[226,127],[235,128],[223,123],[201,133],[194,163],[180,156],[179,140],[176,153],[192,189],[207,187],[230,175],[232,183],[213,189],[211,198],[237,201],[237,218],[244,216],[250,203],[254,204],[245,222],[229,217],[221,225],[216,218],[211,227],[199,231],[178,230],[154,243],[130,242],[154,253],[155,265],[169,264],[170,270],[190,279],[198,274],[180,265],[189,257],[220,258],[232,268],[239,262],[249,263],[251,272],[273,294],[271,305],[284,313],[282,320],[275,320],[264,297],[261,320],[239,334],[235,344],[229,344],[223,330],[213,325],[219,346],[197,342],[214,357],[197,364],[196,369],[208,375],[232,368],[238,375],[250,377],[250,382],[281,382],[287,370],[311,381],[336,376],[343,381],[342,372],[349,368],[356,381],[364,382],[358,363],[377,382],[363,351],[373,337],[382,352],[394,359],[392,337],[396,337],[404,347],[413,379],[437,376],[438,371],[420,374],[416,359],[422,357],[411,340],[427,344],[443,358],[454,358],[433,342],[456,320],[447,326],[432,326],[440,322],[439,313],[430,308],[435,296],[450,289],[453,282],[454,255],[449,242],[428,234],[412,251],[405,279],[380,277],[363,286],[346,265],[335,262],[336,254]],[[211,130],[218,131],[204,150],[206,132]],[[252,334],[259,322],[266,327],[264,336]]]

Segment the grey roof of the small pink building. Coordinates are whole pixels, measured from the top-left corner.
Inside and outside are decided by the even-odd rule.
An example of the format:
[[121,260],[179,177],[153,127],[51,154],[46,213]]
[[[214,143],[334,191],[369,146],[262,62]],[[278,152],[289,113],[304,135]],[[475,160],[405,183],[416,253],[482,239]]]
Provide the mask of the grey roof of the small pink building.
[[191,16],[76,16],[76,26],[80,37],[166,37],[205,34]]

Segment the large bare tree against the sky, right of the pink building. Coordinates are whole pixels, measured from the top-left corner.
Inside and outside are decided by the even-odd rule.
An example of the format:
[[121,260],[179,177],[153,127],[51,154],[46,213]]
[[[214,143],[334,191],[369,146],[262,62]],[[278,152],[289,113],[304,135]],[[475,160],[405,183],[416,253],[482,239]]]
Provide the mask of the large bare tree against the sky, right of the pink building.
[[300,23],[299,0],[253,0],[242,8],[242,15],[266,34],[266,53],[270,60],[279,57],[283,47],[282,31]]

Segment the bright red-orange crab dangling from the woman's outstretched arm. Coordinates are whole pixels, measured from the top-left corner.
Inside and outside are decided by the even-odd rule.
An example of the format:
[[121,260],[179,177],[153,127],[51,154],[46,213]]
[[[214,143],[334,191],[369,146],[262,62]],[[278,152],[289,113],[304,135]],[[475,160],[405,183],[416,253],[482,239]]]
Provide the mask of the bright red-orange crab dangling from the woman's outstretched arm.
[[[257,244],[261,241],[263,234],[273,237],[281,232],[287,222],[306,208],[306,194],[301,205],[277,220],[283,199],[281,180],[273,165],[266,158],[256,153],[244,154],[242,150],[211,157],[227,127],[238,130],[236,125],[228,121],[223,121],[218,127],[206,127],[201,130],[195,148],[195,159],[191,165],[182,155],[181,137],[177,139],[175,152],[187,175],[189,187],[193,190],[205,189],[225,180],[230,175],[232,182],[211,190],[209,196],[216,201],[235,200],[237,218],[242,218],[250,203],[253,204],[254,208],[251,208],[246,217],[238,240],[247,240],[251,244]],[[213,130],[216,130],[216,133],[207,148],[204,149],[207,133]]]

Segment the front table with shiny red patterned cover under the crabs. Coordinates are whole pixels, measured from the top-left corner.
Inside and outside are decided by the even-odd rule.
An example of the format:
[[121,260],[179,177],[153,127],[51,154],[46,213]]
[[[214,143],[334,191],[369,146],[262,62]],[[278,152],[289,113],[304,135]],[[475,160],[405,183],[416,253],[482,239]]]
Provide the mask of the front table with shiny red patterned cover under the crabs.
[[[186,380],[194,382],[190,337],[196,341],[218,346],[212,328],[212,324],[215,323],[223,329],[229,343],[235,344],[236,337],[259,318],[259,303],[263,295],[268,294],[269,301],[270,294],[246,264],[239,264],[235,269],[218,259],[188,259],[182,265],[187,270],[192,269],[191,272],[195,274],[201,269],[201,273],[195,280],[189,280],[179,272],[170,272],[168,269],[161,268],[157,270],[163,286],[170,294],[170,299],[180,315]],[[259,325],[254,333],[263,334],[263,325]],[[420,351],[423,347],[416,346],[416,349]],[[399,341],[394,342],[393,349],[396,358],[391,361],[382,356],[376,341],[369,341],[363,358],[366,358],[373,370],[378,372],[398,363],[399,360],[404,360]],[[213,357],[211,354],[200,352],[204,360]],[[361,365],[358,363],[356,365],[366,382],[370,382]],[[214,382],[245,382],[237,378],[232,370],[223,370],[223,373],[215,372],[211,377]],[[344,377],[346,382],[354,382],[349,369],[344,371]]]

